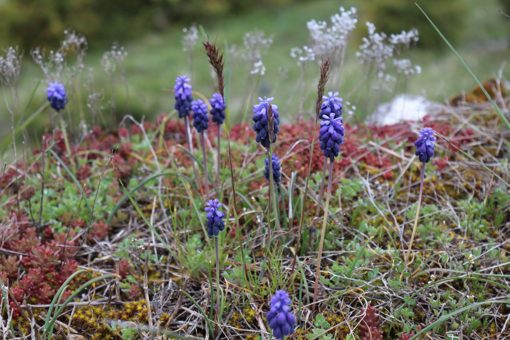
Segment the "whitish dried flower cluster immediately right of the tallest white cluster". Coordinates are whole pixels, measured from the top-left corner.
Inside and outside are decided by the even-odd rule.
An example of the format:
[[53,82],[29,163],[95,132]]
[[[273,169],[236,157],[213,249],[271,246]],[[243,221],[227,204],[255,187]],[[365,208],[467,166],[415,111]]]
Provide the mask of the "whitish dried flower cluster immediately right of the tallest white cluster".
[[375,25],[366,22],[368,28],[368,37],[363,38],[363,44],[360,50],[356,52],[356,57],[360,58],[360,63],[373,65],[379,78],[381,72],[386,71],[386,61],[393,57],[393,45],[387,44],[386,34],[384,32],[375,32]]

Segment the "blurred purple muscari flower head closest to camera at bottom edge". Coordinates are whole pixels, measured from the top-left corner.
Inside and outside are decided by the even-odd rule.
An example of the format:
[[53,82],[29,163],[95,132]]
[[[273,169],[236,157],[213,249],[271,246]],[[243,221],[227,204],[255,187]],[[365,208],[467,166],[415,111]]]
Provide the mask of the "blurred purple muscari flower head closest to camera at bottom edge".
[[270,310],[266,315],[269,328],[273,335],[282,340],[285,336],[294,333],[296,317],[290,312],[289,294],[286,291],[277,291],[270,301]]

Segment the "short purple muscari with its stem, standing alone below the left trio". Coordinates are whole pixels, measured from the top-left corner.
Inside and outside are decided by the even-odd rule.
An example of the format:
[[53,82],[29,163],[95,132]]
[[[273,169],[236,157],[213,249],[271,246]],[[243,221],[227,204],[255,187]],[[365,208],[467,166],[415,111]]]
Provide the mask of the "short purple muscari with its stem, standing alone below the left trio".
[[207,206],[204,211],[207,212],[207,234],[212,237],[214,236],[214,244],[216,250],[216,320],[219,323],[219,315],[220,315],[220,256],[219,256],[219,247],[218,247],[218,236],[220,231],[225,229],[225,222],[223,222],[223,218],[225,217],[225,213],[220,212],[218,209],[223,204],[220,203],[217,199],[211,199],[207,202]]

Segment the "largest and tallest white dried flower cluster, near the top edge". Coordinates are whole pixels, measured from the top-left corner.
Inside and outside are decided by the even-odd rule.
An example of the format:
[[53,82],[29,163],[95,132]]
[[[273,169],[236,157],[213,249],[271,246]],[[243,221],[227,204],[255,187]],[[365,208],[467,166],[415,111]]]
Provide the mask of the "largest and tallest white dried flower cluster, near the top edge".
[[310,46],[315,56],[320,59],[338,60],[347,46],[352,31],[358,23],[356,8],[346,10],[340,7],[340,13],[331,16],[331,25],[326,21],[314,19],[307,22],[310,33]]

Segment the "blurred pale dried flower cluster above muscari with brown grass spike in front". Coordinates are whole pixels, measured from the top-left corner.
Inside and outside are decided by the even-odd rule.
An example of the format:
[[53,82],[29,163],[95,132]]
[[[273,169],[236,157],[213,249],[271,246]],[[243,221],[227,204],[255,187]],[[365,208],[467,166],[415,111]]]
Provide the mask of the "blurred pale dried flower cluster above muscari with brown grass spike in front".
[[240,53],[243,60],[248,61],[251,65],[251,74],[264,75],[266,67],[262,62],[262,57],[265,56],[269,47],[273,44],[273,37],[266,37],[264,32],[252,31],[248,32],[243,37],[244,51]]

